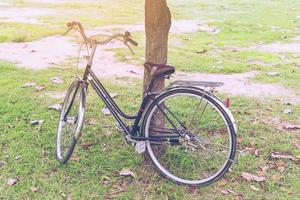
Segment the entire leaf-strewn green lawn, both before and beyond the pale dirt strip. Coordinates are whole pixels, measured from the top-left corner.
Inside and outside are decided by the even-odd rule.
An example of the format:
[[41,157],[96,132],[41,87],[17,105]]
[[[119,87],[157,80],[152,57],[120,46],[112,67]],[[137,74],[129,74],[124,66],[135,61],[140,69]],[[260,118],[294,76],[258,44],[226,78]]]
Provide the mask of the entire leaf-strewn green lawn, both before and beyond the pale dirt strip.
[[[3,2],[8,7],[57,12],[39,17],[39,24],[4,22],[0,18],[0,42],[33,41],[63,33],[65,23],[74,19],[89,29],[143,23],[143,4],[138,0],[88,4]],[[178,66],[178,70],[208,73],[258,70],[260,74],[255,81],[280,84],[300,94],[299,56],[250,48],[274,41],[290,42],[297,36],[298,1],[172,0],[169,4],[174,20],[200,18],[220,29],[219,34],[171,34],[169,63]],[[123,48],[111,51],[115,51],[118,61],[139,60],[142,64],[145,36],[140,31],[132,34],[140,43],[135,55],[128,58],[128,50]],[[234,48],[242,50],[233,51]],[[249,64],[249,60],[259,60],[265,65]],[[279,75],[268,76],[266,73],[270,71]],[[143,156],[136,154],[134,147],[124,142],[113,118],[101,112],[103,103],[90,88],[83,136],[70,162],[60,165],[55,160],[59,113],[48,107],[61,103],[62,98],[55,96],[63,96],[73,72],[74,69],[58,67],[32,71],[0,61],[0,199],[300,199],[300,132],[289,128],[300,123],[300,105],[282,104],[275,98],[218,94],[222,100],[232,100],[231,110],[238,121],[237,163],[220,181],[193,188],[165,180]],[[52,83],[50,79],[56,76],[61,76],[64,83]],[[45,88],[36,91],[34,87],[22,87],[28,82]],[[141,100],[142,81],[105,79],[104,84],[110,92],[118,93],[115,99],[121,108],[134,114]],[[286,109],[292,112],[286,114]],[[31,125],[33,120],[44,122]],[[85,148],[87,142],[92,144],[90,148]],[[136,176],[120,176],[123,168]],[[245,172],[265,180],[246,180],[242,177]],[[10,179],[16,183],[9,184]]]

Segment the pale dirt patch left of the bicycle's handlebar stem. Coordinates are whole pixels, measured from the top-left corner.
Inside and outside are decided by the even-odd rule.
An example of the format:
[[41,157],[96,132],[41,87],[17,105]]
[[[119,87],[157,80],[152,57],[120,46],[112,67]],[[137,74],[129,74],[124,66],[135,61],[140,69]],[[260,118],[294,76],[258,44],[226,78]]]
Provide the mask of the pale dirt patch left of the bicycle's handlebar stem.
[[0,59],[29,69],[44,69],[76,55],[71,37],[53,36],[35,42],[0,43]]

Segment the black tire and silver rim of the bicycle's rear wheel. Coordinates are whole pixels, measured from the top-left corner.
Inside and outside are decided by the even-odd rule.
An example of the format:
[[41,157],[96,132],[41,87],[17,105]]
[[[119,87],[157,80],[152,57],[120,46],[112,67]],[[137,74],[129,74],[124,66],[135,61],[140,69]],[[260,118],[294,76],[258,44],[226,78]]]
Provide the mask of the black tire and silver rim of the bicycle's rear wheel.
[[[154,145],[157,146],[157,144],[152,144],[150,141],[146,141],[146,149],[147,149],[147,154],[149,155],[148,157],[154,164],[154,167],[160,172],[160,174],[167,178],[168,180],[171,180],[173,182],[176,182],[178,184],[183,184],[183,185],[189,185],[189,186],[204,186],[211,184],[217,180],[219,180],[229,169],[229,167],[232,165],[234,156],[235,156],[235,151],[236,151],[236,127],[235,127],[235,122],[232,117],[232,114],[230,111],[224,106],[224,104],[215,96],[212,94],[208,93],[205,90],[201,89],[196,89],[196,88],[188,88],[188,87],[180,87],[180,88],[174,88],[174,89],[169,89],[166,92],[163,92],[161,95],[155,98],[155,101],[151,103],[151,105],[148,107],[144,120],[142,122],[142,133],[144,134],[145,137],[151,137],[149,134],[150,130],[150,124],[151,121],[153,121],[153,116],[154,112],[158,111],[157,105],[162,105],[162,102],[165,104],[165,100],[172,98],[173,96],[176,96],[178,94],[187,94],[191,96],[196,96],[196,97],[201,97],[201,99],[204,99],[208,104],[210,104],[213,108],[216,109],[217,113],[222,117],[224,120],[224,123],[226,124],[227,127],[227,132],[229,136],[229,151],[227,153],[226,160],[220,167],[220,169],[211,175],[210,177],[204,178],[204,179],[198,179],[198,180],[189,180],[187,178],[182,178],[174,175],[172,172],[170,172],[170,167],[169,166],[163,166],[161,161],[158,160],[158,156],[155,155],[155,151],[153,150],[155,147]],[[181,102],[181,101],[179,101]],[[176,107],[178,107],[176,105]],[[178,108],[176,108],[178,109]],[[165,120],[165,119],[164,119]],[[166,125],[165,125],[166,126]],[[171,148],[172,145],[168,145],[167,148]],[[174,145],[176,146],[176,145]],[[167,149],[169,150],[169,149]],[[166,151],[166,150],[164,150]],[[174,151],[175,152],[175,151]],[[176,153],[176,152],[175,152]],[[174,153],[174,154],[175,154]],[[167,153],[166,153],[167,154]],[[161,155],[159,155],[161,156]],[[169,156],[169,155],[168,155]],[[168,169],[169,167],[169,169]],[[186,170],[185,168],[183,168]]]

